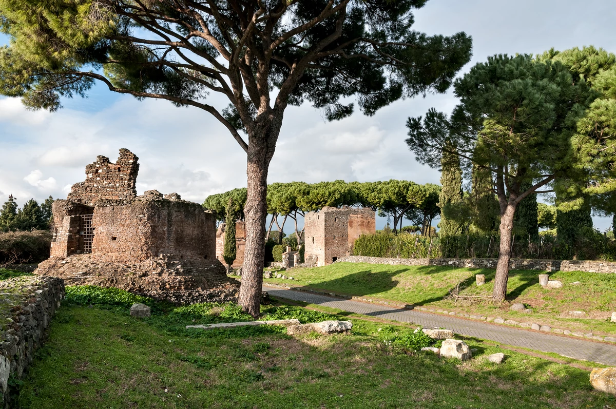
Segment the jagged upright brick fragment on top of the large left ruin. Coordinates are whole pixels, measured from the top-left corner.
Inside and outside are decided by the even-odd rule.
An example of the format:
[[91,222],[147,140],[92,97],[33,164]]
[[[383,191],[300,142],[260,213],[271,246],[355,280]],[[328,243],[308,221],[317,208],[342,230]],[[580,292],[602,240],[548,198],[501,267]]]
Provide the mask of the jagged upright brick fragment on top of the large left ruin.
[[128,149],[120,149],[116,163],[105,156],[97,156],[94,163],[86,166],[86,180],[73,185],[67,199],[88,204],[99,199],[134,199],[139,171],[137,160],[139,158]]

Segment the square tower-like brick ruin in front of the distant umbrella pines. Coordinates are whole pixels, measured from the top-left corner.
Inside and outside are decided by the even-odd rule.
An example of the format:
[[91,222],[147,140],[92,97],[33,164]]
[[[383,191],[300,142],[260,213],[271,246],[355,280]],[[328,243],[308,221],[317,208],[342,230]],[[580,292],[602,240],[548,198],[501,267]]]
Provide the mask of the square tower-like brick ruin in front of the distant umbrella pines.
[[355,240],[375,233],[375,211],[370,208],[325,207],[304,216],[304,264],[328,265],[352,253]]

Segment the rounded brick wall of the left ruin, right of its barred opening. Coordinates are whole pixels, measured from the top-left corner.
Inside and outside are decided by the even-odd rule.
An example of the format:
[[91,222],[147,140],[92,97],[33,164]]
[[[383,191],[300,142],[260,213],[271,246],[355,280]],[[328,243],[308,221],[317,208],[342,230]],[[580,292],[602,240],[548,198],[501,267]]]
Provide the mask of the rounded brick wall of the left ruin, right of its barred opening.
[[216,257],[216,221],[198,203],[139,196],[129,204],[94,209],[92,259],[140,262],[160,254],[176,259]]

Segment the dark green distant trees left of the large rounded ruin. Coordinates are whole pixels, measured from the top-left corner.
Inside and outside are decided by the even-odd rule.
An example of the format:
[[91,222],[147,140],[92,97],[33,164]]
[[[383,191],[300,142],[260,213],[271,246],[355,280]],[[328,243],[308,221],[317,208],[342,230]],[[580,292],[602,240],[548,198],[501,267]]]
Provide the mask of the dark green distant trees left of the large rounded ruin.
[[20,208],[13,195],[4,202],[0,209],[0,232],[26,232],[30,230],[47,230],[53,223],[51,205],[54,198],[49,196],[41,204],[34,199],[26,201]]

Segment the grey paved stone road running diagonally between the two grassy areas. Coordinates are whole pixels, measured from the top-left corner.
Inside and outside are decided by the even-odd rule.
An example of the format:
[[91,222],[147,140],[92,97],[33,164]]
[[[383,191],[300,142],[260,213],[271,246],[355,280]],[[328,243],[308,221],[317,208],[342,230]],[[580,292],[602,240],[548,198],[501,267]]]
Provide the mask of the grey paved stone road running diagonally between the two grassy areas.
[[464,336],[490,339],[491,341],[501,342],[506,345],[543,352],[556,352],[556,354],[567,357],[599,362],[604,365],[616,365],[616,344],[586,341],[585,339],[540,333],[506,325],[477,322],[415,310],[396,309],[378,304],[368,304],[366,302],[302,293],[300,291],[280,290],[279,288],[268,286],[263,286],[263,291],[267,291],[274,297],[310,302],[311,304],[319,304],[386,320],[411,322],[424,327],[442,327]]

